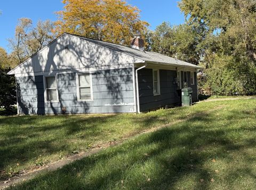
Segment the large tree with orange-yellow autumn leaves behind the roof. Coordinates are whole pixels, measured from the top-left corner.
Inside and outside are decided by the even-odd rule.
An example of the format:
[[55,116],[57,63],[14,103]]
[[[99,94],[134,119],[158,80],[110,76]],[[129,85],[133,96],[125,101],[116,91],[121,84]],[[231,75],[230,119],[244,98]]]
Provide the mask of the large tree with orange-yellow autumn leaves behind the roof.
[[140,20],[137,7],[122,0],[63,0],[55,32],[70,32],[107,42],[130,43],[134,34],[145,35],[148,23]]

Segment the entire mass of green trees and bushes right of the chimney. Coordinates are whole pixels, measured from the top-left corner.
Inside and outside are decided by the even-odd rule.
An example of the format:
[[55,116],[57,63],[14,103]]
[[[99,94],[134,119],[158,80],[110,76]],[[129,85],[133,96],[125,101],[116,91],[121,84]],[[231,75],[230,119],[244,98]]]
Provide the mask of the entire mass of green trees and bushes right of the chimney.
[[200,84],[210,95],[256,92],[256,2],[181,0],[186,22],[165,22],[151,34],[154,51],[195,64],[207,73]]

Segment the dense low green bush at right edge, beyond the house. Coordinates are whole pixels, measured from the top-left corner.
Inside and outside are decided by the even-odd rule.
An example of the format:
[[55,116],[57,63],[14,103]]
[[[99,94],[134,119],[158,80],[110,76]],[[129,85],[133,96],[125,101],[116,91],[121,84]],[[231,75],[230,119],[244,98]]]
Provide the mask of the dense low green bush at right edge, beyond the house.
[[207,80],[202,88],[211,95],[252,95],[256,92],[256,68],[252,62],[237,61],[234,57],[216,58],[206,69]]

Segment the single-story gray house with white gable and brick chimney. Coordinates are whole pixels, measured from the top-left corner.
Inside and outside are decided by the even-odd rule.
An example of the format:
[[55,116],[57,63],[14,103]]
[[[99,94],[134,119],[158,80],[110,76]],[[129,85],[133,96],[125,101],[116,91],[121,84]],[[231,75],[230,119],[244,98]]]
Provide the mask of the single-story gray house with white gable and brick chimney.
[[197,65],[143,49],[63,33],[8,74],[17,82],[18,114],[141,112],[180,103]]

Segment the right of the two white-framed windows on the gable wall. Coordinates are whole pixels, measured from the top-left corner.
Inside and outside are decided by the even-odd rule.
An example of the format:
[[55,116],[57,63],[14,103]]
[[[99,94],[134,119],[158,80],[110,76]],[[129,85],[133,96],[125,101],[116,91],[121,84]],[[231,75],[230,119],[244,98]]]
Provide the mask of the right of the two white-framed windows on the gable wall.
[[90,73],[78,74],[78,100],[92,100]]

